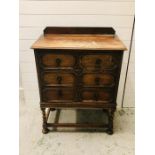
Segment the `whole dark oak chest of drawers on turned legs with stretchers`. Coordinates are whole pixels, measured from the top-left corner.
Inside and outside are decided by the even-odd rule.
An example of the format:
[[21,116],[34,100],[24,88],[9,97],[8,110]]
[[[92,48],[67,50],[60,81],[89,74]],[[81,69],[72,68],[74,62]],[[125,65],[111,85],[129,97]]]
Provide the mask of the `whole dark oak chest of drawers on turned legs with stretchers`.
[[[113,133],[124,44],[113,28],[47,27],[33,44],[43,133],[48,127],[101,127]],[[60,108],[99,108],[108,124],[48,123]]]

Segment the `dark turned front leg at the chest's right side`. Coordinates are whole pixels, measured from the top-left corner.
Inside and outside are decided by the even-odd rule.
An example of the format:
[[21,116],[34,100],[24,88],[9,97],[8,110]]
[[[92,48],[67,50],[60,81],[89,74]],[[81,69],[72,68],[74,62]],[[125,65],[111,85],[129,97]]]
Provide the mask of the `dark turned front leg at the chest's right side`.
[[109,109],[108,110],[108,129],[106,131],[109,135],[113,134],[113,117],[114,117],[114,110]]

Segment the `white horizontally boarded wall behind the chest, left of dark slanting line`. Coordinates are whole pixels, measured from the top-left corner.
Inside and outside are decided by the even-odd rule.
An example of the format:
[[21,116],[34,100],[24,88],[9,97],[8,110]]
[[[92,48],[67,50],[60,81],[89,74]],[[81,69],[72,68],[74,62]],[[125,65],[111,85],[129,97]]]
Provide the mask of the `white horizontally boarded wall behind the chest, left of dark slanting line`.
[[[20,68],[26,102],[39,102],[34,55],[30,46],[46,26],[112,26],[129,49],[133,16],[133,0],[20,1]],[[128,51],[123,59],[117,98],[119,107],[127,60]]]

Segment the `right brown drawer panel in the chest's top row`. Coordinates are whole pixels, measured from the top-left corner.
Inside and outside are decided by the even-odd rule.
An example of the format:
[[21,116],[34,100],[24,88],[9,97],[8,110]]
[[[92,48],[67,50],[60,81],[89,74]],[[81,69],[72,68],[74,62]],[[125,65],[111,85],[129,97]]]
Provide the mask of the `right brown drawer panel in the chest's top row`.
[[85,55],[81,64],[86,69],[113,69],[117,67],[116,58],[113,55]]

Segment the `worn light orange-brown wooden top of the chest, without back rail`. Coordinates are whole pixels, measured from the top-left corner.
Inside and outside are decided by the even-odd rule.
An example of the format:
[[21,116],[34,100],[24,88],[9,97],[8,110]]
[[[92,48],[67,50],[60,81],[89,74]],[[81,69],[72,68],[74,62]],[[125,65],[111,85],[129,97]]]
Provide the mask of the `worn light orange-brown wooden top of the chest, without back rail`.
[[42,35],[32,49],[127,50],[119,38],[110,35]]

